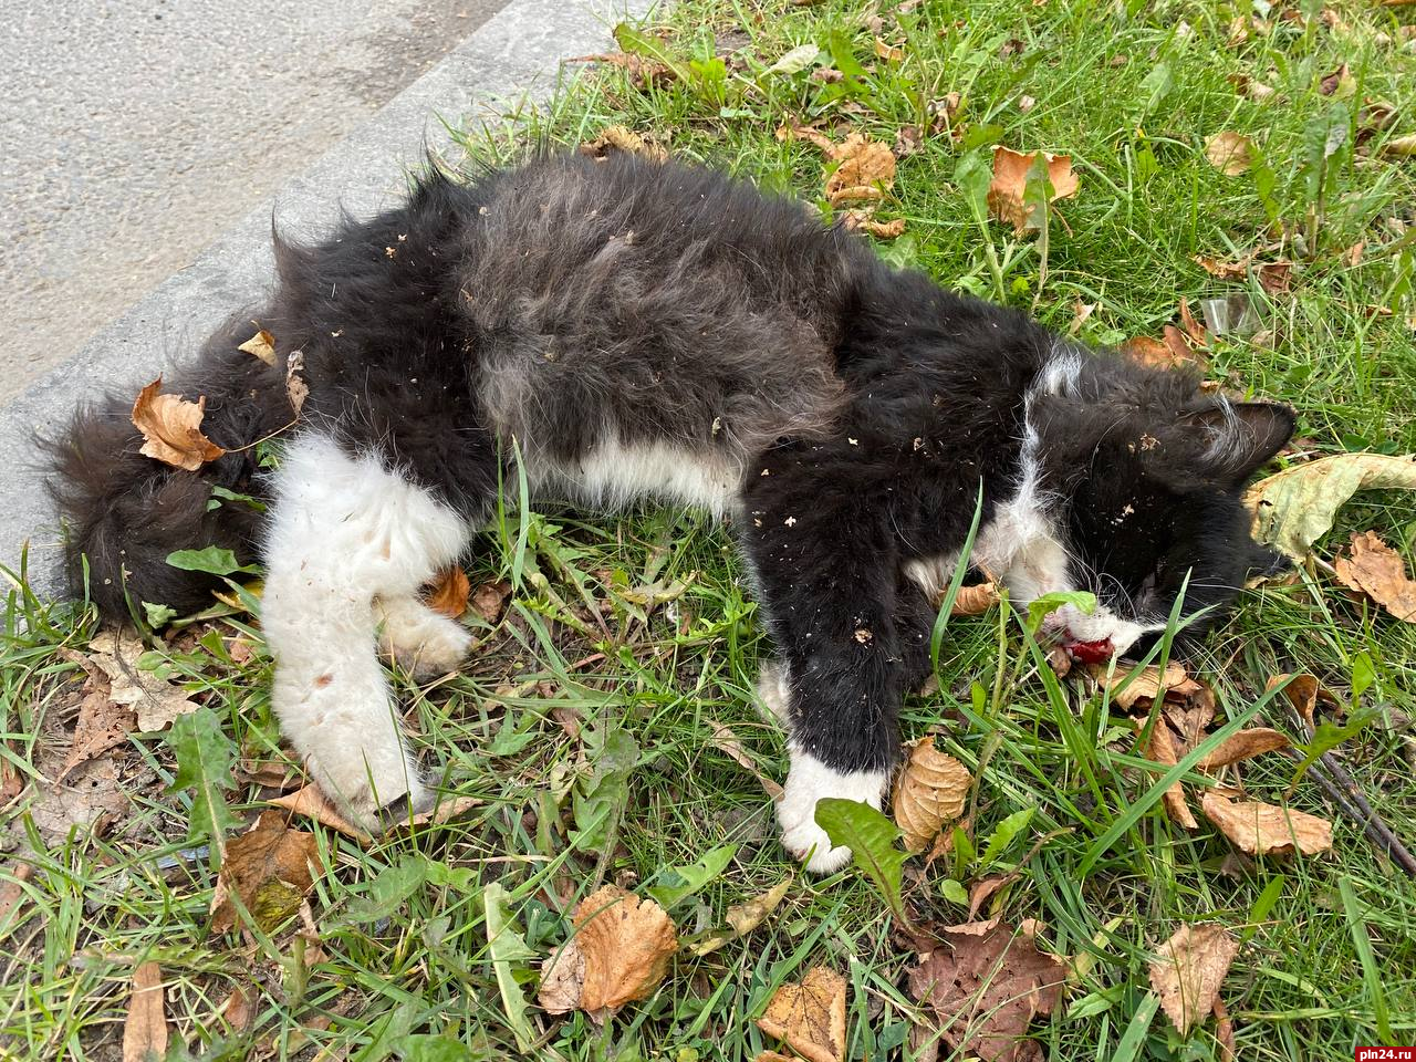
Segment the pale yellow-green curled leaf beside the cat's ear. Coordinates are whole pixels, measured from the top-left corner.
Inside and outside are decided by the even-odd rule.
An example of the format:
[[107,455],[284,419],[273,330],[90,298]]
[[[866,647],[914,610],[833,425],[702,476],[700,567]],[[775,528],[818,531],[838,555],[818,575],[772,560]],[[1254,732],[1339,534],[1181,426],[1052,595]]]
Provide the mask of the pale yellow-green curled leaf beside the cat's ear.
[[1416,490],[1416,457],[1338,453],[1259,480],[1243,501],[1253,513],[1255,538],[1303,561],[1352,494],[1402,487]]

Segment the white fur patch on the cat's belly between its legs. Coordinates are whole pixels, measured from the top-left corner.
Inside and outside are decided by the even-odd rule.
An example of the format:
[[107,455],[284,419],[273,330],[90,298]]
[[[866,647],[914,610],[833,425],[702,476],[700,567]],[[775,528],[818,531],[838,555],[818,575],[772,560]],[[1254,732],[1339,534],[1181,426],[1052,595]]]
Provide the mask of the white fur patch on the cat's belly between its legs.
[[619,510],[644,498],[704,508],[715,517],[732,511],[742,469],[712,455],[666,443],[624,445],[605,439],[573,462],[535,462],[537,494],[598,510]]

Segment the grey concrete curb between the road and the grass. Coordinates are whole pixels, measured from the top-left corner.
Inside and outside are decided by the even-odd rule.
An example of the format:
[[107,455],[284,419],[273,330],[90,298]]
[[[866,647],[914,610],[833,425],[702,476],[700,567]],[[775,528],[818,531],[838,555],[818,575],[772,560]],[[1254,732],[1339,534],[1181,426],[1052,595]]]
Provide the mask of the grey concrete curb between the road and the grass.
[[[450,143],[445,120],[467,127],[506,113],[508,105],[544,101],[562,59],[606,51],[613,23],[651,6],[651,0],[513,0],[282,188],[273,204],[282,232],[319,232],[341,208],[367,215],[396,201],[425,144],[438,152]],[[102,388],[136,394],[232,312],[261,302],[272,278],[270,218],[270,207],[249,214],[72,360],[0,409],[0,564],[16,569],[28,542],[30,585],[41,595],[64,588],[59,534],[34,433],[55,433],[78,401]]]

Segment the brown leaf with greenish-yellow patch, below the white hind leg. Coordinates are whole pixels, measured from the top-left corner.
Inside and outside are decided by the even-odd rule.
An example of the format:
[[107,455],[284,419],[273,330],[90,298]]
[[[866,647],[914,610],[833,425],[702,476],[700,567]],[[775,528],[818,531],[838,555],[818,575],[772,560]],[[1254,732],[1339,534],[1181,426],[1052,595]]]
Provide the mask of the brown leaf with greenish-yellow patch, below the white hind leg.
[[314,834],[292,830],[275,809],[261,813],[252,827],[227,843],[227,857],[211,898],[211,929],[222,933],[238,925],[232,895],[270,933],[290,915],[314,886],[310,867],[320,871]]

